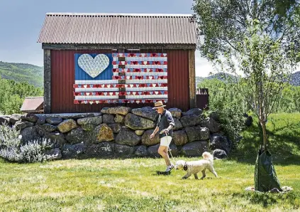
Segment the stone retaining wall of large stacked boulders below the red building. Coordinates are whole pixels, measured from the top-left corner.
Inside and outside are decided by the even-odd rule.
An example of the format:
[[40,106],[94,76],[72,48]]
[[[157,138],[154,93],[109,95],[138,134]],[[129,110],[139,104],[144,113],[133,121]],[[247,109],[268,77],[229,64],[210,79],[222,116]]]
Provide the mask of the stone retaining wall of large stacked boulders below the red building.
[[[171,108],[175,127],[170,149],[174,157],[199,157],[213,151],[226,157],[232,148],[220,132],[218,116],[204,117],[199,108]],[[46,154],[55,159],[160,157],[158,133],[150,139],[158,114],[151,107],[106,107],[99,113],[25,114],[0,117],[21,130],[22,141],[48,139]]]

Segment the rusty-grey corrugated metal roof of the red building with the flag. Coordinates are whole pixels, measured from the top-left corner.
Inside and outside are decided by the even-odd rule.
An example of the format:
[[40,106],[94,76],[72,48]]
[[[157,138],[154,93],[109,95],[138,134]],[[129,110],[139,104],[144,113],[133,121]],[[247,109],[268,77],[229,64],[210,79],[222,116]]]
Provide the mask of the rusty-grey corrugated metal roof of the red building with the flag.
[[46,14],[38,43],[196,44],[193,16],[184,14]]

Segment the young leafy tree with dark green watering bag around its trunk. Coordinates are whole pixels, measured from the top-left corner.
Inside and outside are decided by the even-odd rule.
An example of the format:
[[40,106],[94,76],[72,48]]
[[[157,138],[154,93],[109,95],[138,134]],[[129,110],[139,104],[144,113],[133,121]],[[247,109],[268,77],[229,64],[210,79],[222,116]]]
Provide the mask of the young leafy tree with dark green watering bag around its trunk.
[[266,122],[299,61],[299,1],[196,0],[194,4],[204,35],[199,42],[201,54],[223,71],[235,76],[243,73],[235,88],[262,127],[265,148],[255,166],[255,189],[259,191],[280,189],[267,153]]

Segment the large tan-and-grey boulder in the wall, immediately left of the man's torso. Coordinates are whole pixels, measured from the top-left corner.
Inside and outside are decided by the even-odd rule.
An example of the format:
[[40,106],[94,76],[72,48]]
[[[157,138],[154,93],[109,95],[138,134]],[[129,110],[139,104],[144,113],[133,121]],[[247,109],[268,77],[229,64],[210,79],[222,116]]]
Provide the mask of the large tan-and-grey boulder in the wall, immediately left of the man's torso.
[[125,117],[125,125],[130,129],[152,129],[154,128],[155,122],[151,120],[145,119],[143,117],[139,117],[138,115],[134,115],[132,113],[128,113]]

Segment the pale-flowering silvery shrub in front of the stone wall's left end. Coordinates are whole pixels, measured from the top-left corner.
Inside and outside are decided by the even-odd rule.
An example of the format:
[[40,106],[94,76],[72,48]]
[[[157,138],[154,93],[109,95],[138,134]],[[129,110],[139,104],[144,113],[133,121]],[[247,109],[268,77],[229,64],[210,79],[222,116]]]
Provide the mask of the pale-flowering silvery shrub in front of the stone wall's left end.
[[0,125],[0,157],[19,163],[45,161],[43,154],[48,141],[46,139],[21,142],[20,131],[9,125]]

